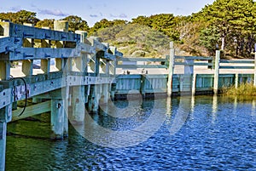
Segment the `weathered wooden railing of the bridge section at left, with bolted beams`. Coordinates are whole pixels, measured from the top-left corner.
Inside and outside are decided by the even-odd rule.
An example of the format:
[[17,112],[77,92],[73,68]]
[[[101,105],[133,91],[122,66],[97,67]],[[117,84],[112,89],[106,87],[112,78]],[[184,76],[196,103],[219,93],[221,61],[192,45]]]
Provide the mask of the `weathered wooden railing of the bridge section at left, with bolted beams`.
[[[0,109],[67,85],[113,82],[122,53],[67,27],[67,21],[55,21],[55,30],[0,22]],[[20,66],[13,68],[14,63]],[[16,79],[20,75],[26,85]]]

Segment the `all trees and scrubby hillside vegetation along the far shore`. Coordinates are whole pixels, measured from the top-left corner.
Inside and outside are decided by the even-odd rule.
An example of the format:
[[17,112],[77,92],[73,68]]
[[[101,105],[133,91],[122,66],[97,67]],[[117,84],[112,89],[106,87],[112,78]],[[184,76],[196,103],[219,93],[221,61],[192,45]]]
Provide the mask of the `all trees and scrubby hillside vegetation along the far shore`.
[[[0,20],[32,23],[37,27],[53,27],[54,23],[52,19],[39,20],[36,13],[26,10],[0,13]],[[153,14],[137,16],[130,22],[103,19],[92,27],[75,15],[62,20],[69,21],[70,31],[88,31],[89,36],[101,37],[102,41],[118,46],[125,56],[164,55],[167,42],[173,41],[177,54],[213,55],[219,48],[224,57],[253,58],[256,43],[256,3],[253,0],[216,0],[189,16]]]

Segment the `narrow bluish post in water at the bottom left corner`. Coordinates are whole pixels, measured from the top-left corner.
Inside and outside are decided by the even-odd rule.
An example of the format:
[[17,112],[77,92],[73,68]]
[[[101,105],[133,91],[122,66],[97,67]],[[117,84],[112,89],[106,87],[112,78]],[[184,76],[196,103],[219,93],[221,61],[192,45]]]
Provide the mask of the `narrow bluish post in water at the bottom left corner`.
[[6,153],[6,128],[7,123],[0,122],[0,170],[5,170],[5,153]]

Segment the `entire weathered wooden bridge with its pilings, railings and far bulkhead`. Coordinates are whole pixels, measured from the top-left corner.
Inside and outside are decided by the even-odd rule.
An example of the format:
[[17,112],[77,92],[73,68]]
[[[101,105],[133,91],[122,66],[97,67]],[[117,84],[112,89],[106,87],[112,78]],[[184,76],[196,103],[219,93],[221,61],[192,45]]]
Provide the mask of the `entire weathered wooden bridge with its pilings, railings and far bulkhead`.
[[[219,51],[214,58],[176,56],[171,43],[164,59],[123,58],[117,48],[85,31],[68,32],[67,21],[55,21],[54,30],[0,22],[0,170],[7,123],[15,120],[50,111],[51,137],[62,139],[68,121],[83,123],[86,111],[96,112],[100,103],[127,94],[217,94],[223,86],[256,85],[256,57],[231,61],[219,56]],[[241,66],[222,66],[230,62]],[[183,66],[181,73],[176,66]],[[197,73],[196,66],[212,73]],[[250,73],[221,73],[236,68]]]

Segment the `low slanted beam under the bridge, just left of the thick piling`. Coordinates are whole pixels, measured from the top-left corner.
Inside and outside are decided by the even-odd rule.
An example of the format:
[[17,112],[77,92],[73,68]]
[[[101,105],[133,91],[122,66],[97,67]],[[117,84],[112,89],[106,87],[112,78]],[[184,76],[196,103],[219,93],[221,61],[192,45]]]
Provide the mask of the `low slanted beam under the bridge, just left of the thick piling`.
[[13,117],[12,117],[12,121],[16,121],[19,119],[24,119],[26,117],[32,117],[38,114],[42,114],[45,112],[50,111],[50,100],[49,101],[45,101],[43,103],[39,103],[37,105],[29,105],[26,106],[26,110],[24,111],[24,113],[22,113],[22,115],[20,115],[20,113],[23,111],[23,108],[19,108],[15,111],[13,111]]

